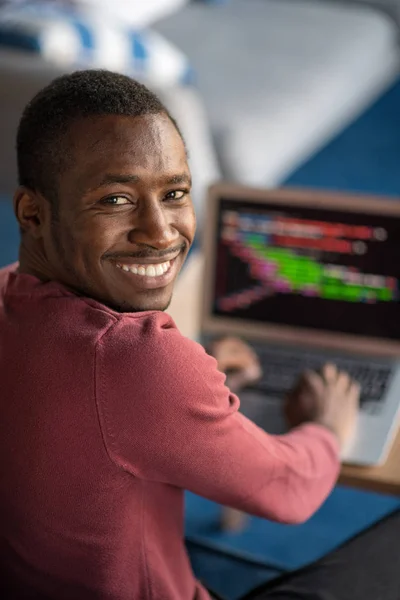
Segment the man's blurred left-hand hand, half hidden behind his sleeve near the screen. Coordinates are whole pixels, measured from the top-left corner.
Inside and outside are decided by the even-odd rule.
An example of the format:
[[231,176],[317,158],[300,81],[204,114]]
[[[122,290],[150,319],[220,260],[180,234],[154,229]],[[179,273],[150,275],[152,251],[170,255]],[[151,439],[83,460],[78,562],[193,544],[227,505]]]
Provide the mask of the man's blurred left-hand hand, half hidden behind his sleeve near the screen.
[[233,391],[257,381],[261,367],[256,353],[245,342],[235,337],[226,337],[213,342],[209,348],[218,362],[218,369],[226,373],[226,382]]

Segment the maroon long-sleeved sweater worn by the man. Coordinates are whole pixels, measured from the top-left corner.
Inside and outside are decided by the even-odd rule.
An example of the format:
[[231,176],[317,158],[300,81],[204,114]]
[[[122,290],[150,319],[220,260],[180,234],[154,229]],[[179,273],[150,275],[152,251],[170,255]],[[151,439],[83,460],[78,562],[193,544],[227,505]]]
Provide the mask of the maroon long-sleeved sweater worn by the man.
[[224,381],[162,312],[120,314],[0,270],[0,596],[208,598],[183,543],[184,489],[310,516],[338,474],[333,435],[269,436]]

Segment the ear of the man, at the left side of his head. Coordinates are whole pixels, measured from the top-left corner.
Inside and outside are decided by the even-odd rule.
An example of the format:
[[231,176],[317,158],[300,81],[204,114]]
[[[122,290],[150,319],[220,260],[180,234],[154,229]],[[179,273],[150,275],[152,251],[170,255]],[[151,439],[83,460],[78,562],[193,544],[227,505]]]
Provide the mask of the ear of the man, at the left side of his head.
[[48,218],[49,207],[46,207],[46,203],[41,194],[25,187],[19,187],[14,194],[14,213],[19,226],[35,239],[42,237],[43,226]]

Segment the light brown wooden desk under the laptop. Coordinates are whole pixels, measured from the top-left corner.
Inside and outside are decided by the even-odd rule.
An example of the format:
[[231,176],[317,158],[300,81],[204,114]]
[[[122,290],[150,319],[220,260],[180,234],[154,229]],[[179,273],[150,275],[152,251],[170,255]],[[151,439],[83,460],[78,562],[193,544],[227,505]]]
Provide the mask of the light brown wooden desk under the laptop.
[[[203,261],[201,256],[190,257],[180,276],[168,313],[183,335],[195,339],[200,329],[200,283]],[[386,463],[380,467],[344,465],[340,483],[366,490],[400,494],[400,432]]]

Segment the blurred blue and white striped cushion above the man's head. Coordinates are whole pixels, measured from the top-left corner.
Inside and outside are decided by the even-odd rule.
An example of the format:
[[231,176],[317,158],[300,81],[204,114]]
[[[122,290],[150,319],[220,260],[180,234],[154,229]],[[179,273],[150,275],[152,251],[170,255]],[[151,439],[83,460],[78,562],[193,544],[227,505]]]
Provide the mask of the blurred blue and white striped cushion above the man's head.
[[188,83],[185,55],[151,29],[132,30],[96,15],[81,15],[46,4],[0,11],[0,46],[37,52],[69,68],[105,68],[151,85]]

